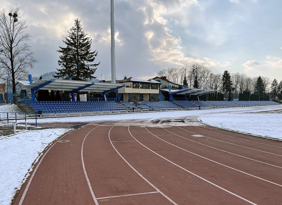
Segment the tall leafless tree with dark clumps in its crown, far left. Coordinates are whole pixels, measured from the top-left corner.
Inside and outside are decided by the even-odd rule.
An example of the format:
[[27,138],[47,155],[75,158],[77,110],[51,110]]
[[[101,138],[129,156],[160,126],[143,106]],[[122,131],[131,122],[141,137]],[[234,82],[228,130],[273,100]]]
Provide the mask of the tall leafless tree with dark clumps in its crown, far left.
[[28,68],[37,62],[33,58],[30,41],[31,35],[24,31],[29,28],[25,19],[20,19],[20,8],[0,11],[0,73],[6,82],[8,71],[11,73],[13,93],[16,93],[16,80],[27,78]]

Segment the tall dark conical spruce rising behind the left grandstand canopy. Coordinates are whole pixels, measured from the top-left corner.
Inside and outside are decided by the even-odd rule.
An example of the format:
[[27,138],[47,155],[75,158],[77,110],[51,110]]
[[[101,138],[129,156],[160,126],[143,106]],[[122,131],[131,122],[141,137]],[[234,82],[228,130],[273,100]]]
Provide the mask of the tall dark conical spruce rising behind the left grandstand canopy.
[[[93,76],[99,63],[93,63],[98,52],[95,50],[91,52],[92,39],[86,37],[87,33],[84,32],[82,25],[78,19],[75,19],[74,26],[68,31],[66,40],[63,41],[66,47],[59,46],[58,64],[61,68],[57,68],[55,78],[72,80],[92,80],[96,77]],[[77,93],[77,100],[79,99],[79,92]]]

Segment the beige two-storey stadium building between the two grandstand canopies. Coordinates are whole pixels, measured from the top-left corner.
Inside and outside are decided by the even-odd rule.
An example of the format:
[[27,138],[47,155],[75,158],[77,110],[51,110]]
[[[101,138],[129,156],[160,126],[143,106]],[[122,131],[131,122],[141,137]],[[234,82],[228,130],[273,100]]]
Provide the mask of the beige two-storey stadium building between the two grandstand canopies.
[[148,100],[151,102],[159,101],[159,90],[160,82],[156,80],[138,80],[136,78],[127,78],[125,80],[117,80],[117,83],[124,83],[127,86],[117,90],[119,95],[123,95],[122,98],[124,101],[128,102],[139,102],[142,99],[140,96],[143,96],[143,100]]

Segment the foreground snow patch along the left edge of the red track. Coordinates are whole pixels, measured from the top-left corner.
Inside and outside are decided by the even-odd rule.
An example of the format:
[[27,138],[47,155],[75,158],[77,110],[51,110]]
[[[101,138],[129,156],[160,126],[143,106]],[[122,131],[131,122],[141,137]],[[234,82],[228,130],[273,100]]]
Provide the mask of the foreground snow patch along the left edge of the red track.
[[16,190],[29,176],[27,173],[32,171],[33,162],[65,132],[68,129],[31,130],[0,138],[0,204],[11,203]]

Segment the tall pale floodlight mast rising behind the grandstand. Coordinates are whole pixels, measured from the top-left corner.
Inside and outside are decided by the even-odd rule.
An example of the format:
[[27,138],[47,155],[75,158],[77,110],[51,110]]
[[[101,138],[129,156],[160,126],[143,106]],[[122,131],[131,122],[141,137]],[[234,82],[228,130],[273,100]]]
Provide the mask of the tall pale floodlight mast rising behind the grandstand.
[[114,0],[111,0],[111,70],[112,80],[115,83],[115,25],[114,25]]

